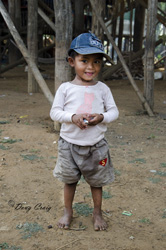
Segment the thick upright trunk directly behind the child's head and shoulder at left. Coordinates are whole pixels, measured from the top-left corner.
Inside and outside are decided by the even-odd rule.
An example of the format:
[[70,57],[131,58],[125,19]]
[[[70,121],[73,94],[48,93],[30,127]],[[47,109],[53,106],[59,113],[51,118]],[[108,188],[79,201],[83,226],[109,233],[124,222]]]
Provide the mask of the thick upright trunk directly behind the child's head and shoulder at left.
[[[54,0],[56,24],[55,50],[55,91],[60,84],[71,80],[71,68],[66,62],[67,51],[72,40],[72,8],[69,0]],[[59,131],[59,123],[54,123],[55,130]]]

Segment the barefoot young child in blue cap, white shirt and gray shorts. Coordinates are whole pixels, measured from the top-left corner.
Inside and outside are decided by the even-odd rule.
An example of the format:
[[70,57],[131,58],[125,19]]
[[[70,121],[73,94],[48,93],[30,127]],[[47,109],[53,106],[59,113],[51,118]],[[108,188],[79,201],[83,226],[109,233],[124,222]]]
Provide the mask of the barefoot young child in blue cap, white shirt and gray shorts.
[[91,187],[94,202],[93,223],[96,231],[106,230],[102,217],[102,187],[114,179],[109,147],[104,138],[106,124],[119,112],[110,89],[96,82],[104,53],[101,41],[92,33],[76,37],[68,51],[68,63],[75,78],[60,85],[50,111],[53,121],[62,123],[58,141],[58,159],[54,176],[64,182],[64,215],[59,228],[68,229],[72,203],[81,175]]

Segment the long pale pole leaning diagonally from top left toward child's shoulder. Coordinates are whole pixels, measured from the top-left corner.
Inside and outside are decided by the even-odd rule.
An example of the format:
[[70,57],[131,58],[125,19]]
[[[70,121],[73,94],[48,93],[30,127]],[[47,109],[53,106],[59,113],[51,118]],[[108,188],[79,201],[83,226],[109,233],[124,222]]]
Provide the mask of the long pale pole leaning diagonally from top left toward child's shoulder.
[[47,100],[52,105],[54,97],[53,97],[52,93],[50,92],[47,84],[45,83],[45,81],[44,81],[40,71],[38,70],[36,64],[31,59],[25,44],[23,43],[19,33],[16,30],[16,27],[14,26],[14,23],[12,22],[8,12],[6,11],[6,9],[2,3],[2,0],[0,0],[0,13],[2,14],[2,16],[6,22],[6,25],[8,26],[8,29],[10,30],[10,32],[11,32],[18,48],[20,49],[22,55],[24,56],[26,62],[29,63],[29,67],[34,74],[36,81],[38,82],[39,86],[41,87]]

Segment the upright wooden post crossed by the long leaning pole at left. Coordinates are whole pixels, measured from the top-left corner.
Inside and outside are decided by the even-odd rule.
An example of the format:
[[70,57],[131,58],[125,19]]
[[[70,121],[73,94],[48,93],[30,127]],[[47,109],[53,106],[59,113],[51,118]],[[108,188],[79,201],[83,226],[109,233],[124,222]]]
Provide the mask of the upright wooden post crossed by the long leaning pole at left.
[[[37,55],[38,55],[38,25],[37,25],[37,8],[38,1],[29,0],[28,1],[28,34],[27,34],[27,44],[28,52],[32,60],[37,65]],[[28,93],[39,92],[38,84],[33,76],[32,70],[28,64]]]

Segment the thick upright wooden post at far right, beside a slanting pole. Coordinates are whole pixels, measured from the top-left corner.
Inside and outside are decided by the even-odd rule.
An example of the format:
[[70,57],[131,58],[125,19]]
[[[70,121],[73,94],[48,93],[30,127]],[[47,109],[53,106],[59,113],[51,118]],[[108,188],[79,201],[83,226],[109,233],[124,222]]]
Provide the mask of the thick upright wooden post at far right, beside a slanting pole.
[[157,0],[148,0],[147,32],[144,60],[144,96],[153,110],[154,107],[154,48]]

